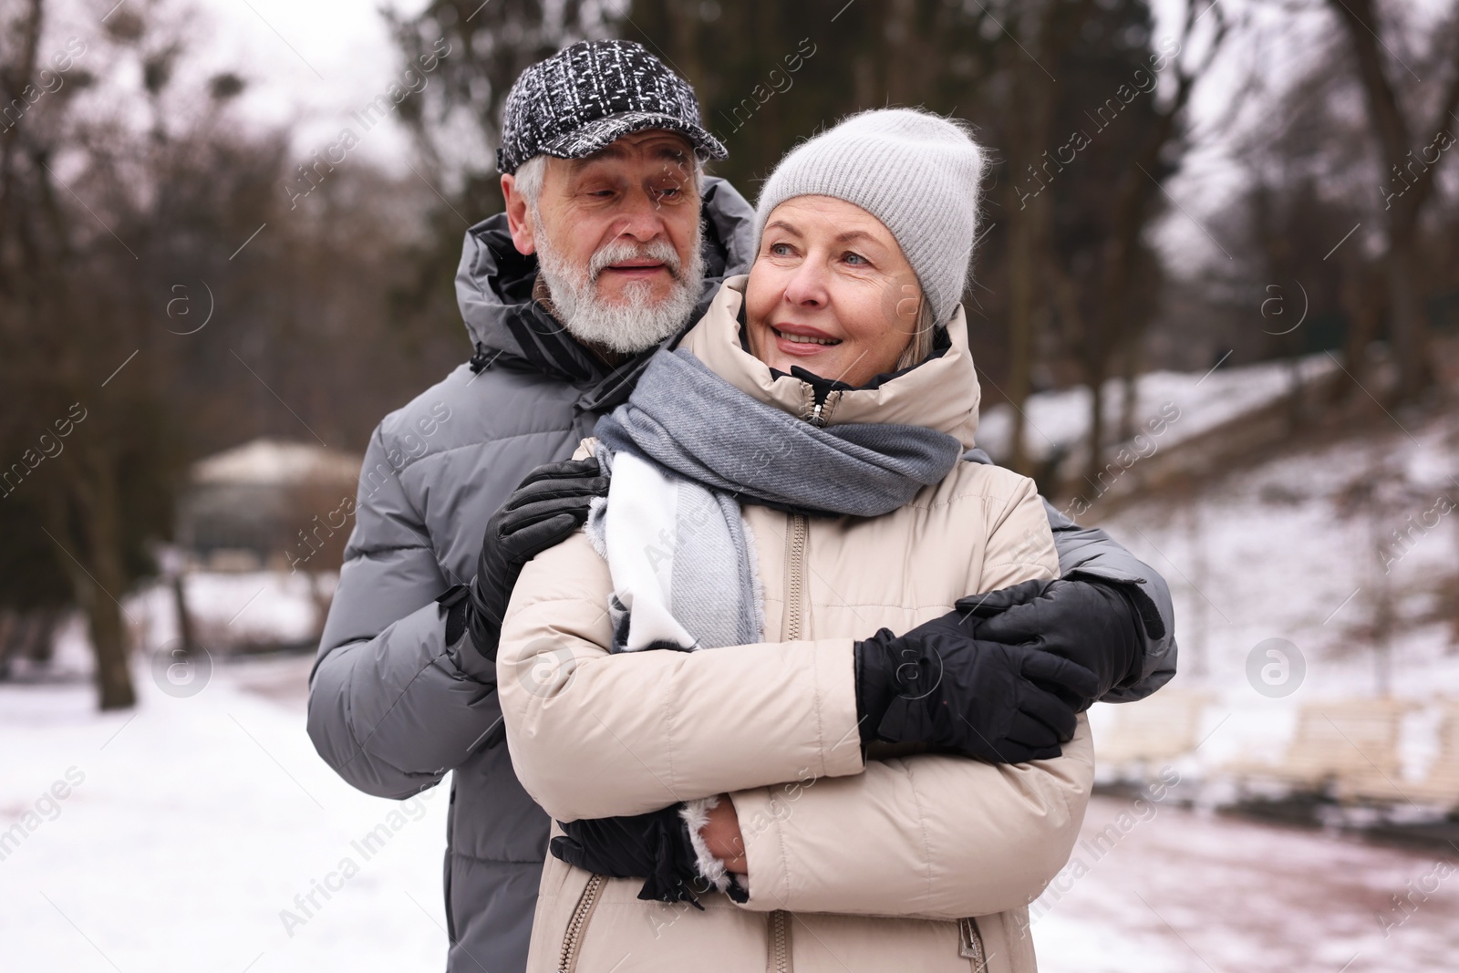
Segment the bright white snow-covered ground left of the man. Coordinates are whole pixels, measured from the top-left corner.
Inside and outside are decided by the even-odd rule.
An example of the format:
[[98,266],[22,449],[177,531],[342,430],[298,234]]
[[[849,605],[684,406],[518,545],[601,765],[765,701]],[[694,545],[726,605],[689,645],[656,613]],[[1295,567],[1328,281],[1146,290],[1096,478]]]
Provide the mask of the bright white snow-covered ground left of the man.
[[[187,699],[139,667],[142,703],[117,715],[85,683],[0,686],[0,969],[445,964],[446,791],[352,789],[314,753],[302,693],[239,689],[257,665]],[[308,659],[289,667],[302,684]]]

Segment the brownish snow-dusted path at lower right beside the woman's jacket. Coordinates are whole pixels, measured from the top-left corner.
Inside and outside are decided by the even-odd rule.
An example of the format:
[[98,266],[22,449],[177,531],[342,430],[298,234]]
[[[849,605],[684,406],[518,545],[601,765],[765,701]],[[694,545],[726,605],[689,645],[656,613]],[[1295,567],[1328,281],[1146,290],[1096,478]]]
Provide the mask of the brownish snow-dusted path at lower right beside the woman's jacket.
[[1043,973],[1456,967],[1459,850],[1440,859],[1166,802],[1090,804],[1083,868],[1071,861],[1030,912]]

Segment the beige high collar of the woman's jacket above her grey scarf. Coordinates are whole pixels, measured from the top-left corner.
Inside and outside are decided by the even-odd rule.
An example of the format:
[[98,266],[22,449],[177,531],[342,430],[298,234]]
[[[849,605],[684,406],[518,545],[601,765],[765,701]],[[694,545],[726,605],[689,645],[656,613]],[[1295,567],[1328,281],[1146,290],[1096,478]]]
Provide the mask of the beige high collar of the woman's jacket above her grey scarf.
[[[811,420],[816,389],[810,382],[773,372],[740,343],[740,308],[744,305],[744,274],[725,280],[709,311],[684,336],[680,347],[709,366],[747,395]],[[821,416],[826,425],[887,423],[924,426],[956,436],[972,449],[978,432],[978,403],[982,392],[978,369],[967,350],[967,318],[957,308],[947,325],[950,346],[916,368],[878,382],[875,388],[833,391],[826,395]]]

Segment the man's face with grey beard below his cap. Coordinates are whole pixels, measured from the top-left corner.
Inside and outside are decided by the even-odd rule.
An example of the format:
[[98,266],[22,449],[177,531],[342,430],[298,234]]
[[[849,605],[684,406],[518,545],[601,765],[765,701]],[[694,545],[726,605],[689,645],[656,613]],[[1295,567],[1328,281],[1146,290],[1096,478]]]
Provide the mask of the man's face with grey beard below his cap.
[[[515,181],[503,177],[516,249],[554,251],[591,277],[592,295],[607,305],[670,299],[699,245],[692,153],[683,136],[649,130],[585,159],[549,158],[535,219]],[[594,267],[598,254],[604,258]]]

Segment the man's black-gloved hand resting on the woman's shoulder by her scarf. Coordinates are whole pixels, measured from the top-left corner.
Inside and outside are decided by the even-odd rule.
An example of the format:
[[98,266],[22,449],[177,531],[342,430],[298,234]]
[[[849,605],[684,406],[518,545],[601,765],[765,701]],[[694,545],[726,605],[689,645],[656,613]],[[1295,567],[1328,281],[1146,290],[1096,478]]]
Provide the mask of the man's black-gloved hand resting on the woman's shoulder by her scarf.
[[446,645],[468,630],[477,652],[495,662],[506,602],[522,566],[568,540],[588,519],[592,497],[607,495],[608,477],[592,457],[549,462],[527,474],[486,522],[476,576],[436,600],[448,610]]

